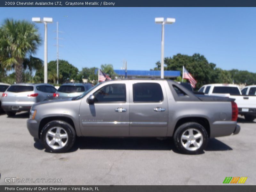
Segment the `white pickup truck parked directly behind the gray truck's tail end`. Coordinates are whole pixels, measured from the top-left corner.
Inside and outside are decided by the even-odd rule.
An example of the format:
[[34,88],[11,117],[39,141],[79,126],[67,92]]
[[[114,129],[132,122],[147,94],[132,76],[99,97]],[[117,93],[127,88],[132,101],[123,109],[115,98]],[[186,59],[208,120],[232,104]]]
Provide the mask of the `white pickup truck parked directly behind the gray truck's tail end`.
[[256,96],[242,95],[238,85],[235,84],[207,84],[199,89],[205,95],[215,95],[236,99],[238,113],[247,121],[253,121],[256,117]]

